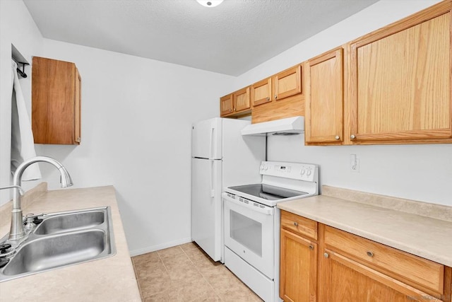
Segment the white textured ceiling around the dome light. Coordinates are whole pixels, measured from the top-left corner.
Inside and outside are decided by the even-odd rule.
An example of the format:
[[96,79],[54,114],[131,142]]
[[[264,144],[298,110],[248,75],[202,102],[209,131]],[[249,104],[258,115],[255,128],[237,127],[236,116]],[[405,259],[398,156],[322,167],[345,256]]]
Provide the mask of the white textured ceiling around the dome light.
[[238,76],[377,0],[24,0],[42,35]]

